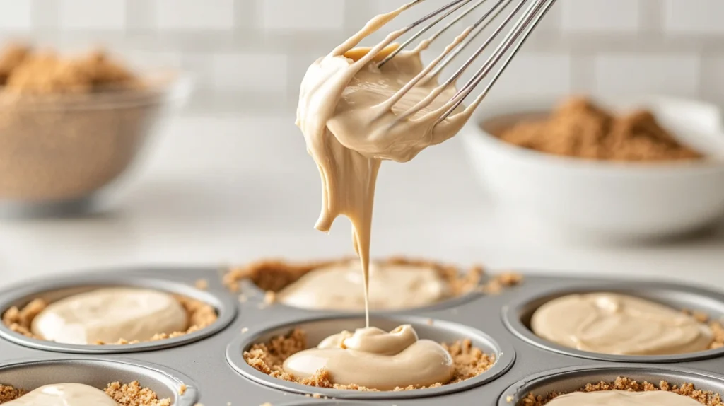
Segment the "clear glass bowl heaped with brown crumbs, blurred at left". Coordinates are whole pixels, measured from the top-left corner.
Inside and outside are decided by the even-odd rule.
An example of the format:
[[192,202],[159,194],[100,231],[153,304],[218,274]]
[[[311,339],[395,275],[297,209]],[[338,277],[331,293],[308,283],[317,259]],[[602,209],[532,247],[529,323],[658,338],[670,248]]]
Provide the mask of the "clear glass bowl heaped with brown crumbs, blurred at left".
[[1,48],[0,213],[89,208],[189,92],[178,72],[135,72],[103,50]]

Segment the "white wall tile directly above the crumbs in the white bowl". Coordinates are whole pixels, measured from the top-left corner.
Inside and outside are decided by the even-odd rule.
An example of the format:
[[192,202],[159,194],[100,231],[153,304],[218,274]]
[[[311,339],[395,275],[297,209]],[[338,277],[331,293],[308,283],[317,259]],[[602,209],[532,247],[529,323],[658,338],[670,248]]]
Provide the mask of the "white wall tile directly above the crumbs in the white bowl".
[[700,59],[695,54],[597,56],[594,90],[603,95],[659,93],[696,96]]

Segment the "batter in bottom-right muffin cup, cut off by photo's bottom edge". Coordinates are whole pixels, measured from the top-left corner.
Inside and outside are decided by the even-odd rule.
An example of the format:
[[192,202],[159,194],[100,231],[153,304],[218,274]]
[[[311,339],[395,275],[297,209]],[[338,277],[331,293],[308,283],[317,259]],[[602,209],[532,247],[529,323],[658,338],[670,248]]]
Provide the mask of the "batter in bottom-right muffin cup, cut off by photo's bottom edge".
[[672,392],[573,392],[563,394],[547,406],[702,406],[691,397]]

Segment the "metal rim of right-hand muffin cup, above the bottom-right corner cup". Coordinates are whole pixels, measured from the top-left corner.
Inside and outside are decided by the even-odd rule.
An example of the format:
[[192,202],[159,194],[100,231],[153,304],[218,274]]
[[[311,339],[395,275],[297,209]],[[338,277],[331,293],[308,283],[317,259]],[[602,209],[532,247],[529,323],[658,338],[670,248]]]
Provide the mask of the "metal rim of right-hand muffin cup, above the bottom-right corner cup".
[[[665,364],[695,360],[707,360],[710,358],[717,358],[724,355],[724,347],[712,350],[686,352],[683,354],[673,355],[614,355],[600,352],[576,350],[575,348],[565,347],[563,345],[556,344],[555,342],[550,342],[547,339],[543,339],[542,337],[538,337],[531,329],[529,329],[528,326],[526,326],[521,321],[521,318],[519,317],[520,314],[523,312],[523,308],[526,308],[526,306],[528,306],[530,303],[534,303],[537,300],[543,300],[546,297],[555,298],[565,295],[575,295],[577,293],[592,292],[623,292],[626,295],[646,299],[644,295],[636,293],[636,285],[645,285],[646,292],[651,292],[655,290],[672,290],[683,292],[689,295],[699,295],[702,297],[707,297],[707,299],[715,300],[721,303],[724,308],[724,295],[719,292],[715,292],[710,289],[704,289],[702,287],[697,287],[694,285],[681,285],[668,282],[647,282],[635,279],[619,282],[609,281],[605,284],[601,284],[600,282],[579,282],[576,285],[544,289],[541,292],[536,293],[536,295],[521,297],[513,300],[507,305],[503,305],[500,312],[502,317],[502,323],[505,325],[505,328],[510,331],[511,334],[513,334],[515,337],[518,337],[518,339],[523,340],[523,342],[526,342],[526,344],[538,347],[545,351],[554,352],[558,355],[566,355],[575,358],[584,358],[588,360],[598,360],[616,363]],[[639,289],[638,292],[641,292],[641,290]],[[662,303],[667,304],[665,303],[665,301],[662,301]]]

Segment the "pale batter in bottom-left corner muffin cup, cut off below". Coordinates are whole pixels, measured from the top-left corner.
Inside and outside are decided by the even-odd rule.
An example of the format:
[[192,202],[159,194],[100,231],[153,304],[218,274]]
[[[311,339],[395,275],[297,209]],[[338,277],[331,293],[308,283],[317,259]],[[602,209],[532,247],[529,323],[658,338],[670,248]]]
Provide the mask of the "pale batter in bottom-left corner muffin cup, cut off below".
[[118,406],[106,392],[84,384],[41,386],[10,402],[7,406]]

